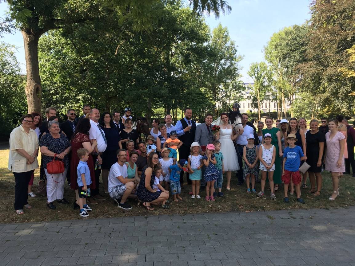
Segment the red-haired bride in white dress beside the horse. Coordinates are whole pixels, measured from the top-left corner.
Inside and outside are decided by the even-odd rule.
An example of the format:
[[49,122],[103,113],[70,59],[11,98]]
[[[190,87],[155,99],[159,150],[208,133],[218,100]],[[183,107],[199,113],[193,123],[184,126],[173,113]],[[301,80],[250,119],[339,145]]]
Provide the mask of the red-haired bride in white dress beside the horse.
[[239,170],[239,163],[237,158],[237,153],[234,148],[234,140],[237,135],[234,134],[233,128],[228,124],[228,116],[226,113],[221,115],[222,124],[220,126],[220,131],[215,135],[215,139],[221,144],[220,151],[223,154],[223,167],[224,171],[227,172],[227,190],[230,190],[230,178],[232,171]]

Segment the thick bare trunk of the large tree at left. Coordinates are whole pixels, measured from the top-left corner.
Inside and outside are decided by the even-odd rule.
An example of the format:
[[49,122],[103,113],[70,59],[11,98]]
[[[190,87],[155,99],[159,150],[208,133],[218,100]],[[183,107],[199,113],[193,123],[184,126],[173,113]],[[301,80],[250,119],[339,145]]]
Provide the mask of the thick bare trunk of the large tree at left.
[[42,87],[38,67],[38,40],[40,36],[21,31],[26,59],[27,84],[25,88],[28,113],[41,113]]

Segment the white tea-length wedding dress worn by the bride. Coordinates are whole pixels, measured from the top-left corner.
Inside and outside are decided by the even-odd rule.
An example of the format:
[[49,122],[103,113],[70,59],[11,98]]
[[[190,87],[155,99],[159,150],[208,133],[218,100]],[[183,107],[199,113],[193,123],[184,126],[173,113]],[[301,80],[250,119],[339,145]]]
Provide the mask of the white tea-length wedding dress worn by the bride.
[[219,131],[219,142],[221,143],[220,152],[223,154],[223,167],[225,172],[239,170],[237,153],[235,151],[233,140],[230,138],[231,135],[231,128],[221,128]]

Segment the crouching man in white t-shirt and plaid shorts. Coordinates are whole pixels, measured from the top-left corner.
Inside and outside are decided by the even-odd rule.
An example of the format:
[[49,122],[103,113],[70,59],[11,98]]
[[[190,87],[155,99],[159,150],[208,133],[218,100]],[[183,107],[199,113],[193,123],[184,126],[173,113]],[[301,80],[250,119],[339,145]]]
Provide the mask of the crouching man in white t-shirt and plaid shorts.
[[125,165],[127,154],[125,149],[117,151],[117,159],[117,162],[111,166],[109,172],[108,187],[110,197],[118,203],[121,209],[130,210],[132,206],[126,203],[126,200],[136,187],[137,181],[134,178],[127,178],[127,166]]

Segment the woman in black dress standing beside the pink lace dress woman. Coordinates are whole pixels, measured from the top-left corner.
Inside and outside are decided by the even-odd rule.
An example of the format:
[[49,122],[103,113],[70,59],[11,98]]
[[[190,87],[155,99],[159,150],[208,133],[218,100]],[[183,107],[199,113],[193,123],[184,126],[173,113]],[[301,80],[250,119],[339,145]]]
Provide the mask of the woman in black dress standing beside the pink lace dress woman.
[[318,130],[318,120],[311,120],[310,127],[311,130],[306,133],[308,154],[306,162],[311,166],[308,169],[311,183],[311,190],[309,192],[315,196],[319,196],[322,189],[322,156],[324,150],[324,142],[326,139],[324,134]]

